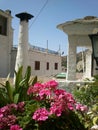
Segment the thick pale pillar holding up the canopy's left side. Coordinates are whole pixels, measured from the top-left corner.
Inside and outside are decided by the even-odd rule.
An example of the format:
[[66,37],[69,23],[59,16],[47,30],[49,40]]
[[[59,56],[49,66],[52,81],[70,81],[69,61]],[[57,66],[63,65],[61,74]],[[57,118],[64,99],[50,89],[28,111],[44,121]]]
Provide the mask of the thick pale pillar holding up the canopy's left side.
[[69,36],[67,57],[67,80],[76,80],[76,44],[74,38]]

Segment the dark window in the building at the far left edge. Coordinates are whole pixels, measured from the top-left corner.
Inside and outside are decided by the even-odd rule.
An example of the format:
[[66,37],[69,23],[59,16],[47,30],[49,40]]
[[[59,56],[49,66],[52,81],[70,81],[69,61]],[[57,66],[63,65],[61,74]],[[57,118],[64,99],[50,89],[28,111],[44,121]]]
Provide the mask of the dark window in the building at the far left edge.
[[0,15],[0,35],[7,35],[7,18]]

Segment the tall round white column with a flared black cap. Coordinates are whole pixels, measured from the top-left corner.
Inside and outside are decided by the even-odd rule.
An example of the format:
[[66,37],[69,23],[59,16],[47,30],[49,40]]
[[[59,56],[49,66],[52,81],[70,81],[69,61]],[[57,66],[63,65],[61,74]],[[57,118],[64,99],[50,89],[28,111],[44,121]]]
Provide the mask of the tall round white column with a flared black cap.
[[28,61],[28,20],[33,16],[26,12],[16,14],[16,17],[20,18],[19,26],[19,40],[18,40],[18,49],[16,56],[15,71],[17,72],[19,67],[23,66],[23,74],[26,71],[27,66],[29,65]]

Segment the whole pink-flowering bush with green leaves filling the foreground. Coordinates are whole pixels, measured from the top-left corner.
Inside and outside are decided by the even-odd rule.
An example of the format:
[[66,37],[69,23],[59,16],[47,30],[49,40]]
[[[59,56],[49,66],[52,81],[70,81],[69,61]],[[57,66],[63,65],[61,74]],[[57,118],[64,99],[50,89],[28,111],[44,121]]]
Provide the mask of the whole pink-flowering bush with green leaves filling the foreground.
[[54,80],[35,83],[27,90],[29,101],[0,109],[0,130],[86,130],[81,116],[87,107]]

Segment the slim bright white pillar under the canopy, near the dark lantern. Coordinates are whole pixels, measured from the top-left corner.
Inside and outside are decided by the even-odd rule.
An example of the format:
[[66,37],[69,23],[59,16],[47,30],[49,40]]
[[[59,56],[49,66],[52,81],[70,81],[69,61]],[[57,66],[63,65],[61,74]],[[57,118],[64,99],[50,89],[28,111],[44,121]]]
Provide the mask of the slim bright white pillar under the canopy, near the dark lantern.
[[83,78],[91,78],[92,71],[92,51],[88,50],[86,52],[86,67],[85,67],[85,75]]

